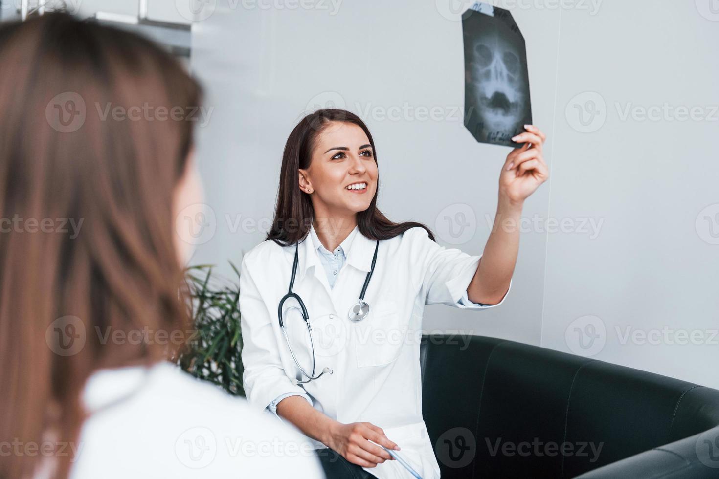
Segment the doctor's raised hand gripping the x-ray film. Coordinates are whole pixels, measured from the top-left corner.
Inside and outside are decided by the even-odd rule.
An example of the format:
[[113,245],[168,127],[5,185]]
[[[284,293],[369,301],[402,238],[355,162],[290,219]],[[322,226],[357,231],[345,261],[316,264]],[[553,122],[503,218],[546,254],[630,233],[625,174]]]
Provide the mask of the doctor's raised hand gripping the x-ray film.
[[513,205],[521,205],[549,178],[549,167],[542,156],[546,135],[534,125],[524,128],[526,131],[512,138],[523,145],[509,152],[499,177],[500,198]]

